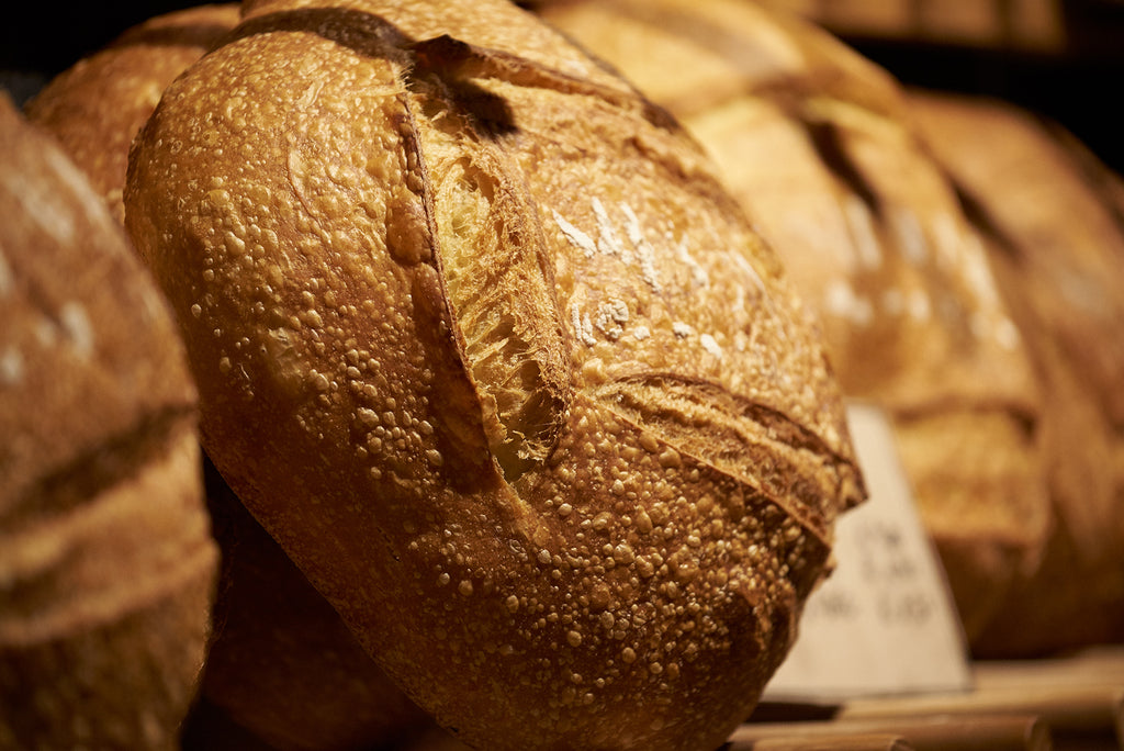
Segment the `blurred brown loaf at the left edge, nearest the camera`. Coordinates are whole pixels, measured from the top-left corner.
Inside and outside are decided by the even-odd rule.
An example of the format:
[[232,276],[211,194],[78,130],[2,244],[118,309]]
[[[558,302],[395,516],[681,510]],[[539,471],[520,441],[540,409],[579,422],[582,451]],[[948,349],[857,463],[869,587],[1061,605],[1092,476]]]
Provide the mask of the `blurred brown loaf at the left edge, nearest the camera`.
[[151,277],[0,98],[0,748],[174,749],[217,550]]

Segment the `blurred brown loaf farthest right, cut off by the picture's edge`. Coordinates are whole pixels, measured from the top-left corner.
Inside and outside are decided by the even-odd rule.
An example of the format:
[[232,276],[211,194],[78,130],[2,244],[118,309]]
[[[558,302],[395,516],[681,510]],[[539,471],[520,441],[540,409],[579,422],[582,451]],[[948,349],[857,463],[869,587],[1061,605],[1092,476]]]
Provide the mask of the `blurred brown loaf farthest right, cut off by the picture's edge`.
[[977,649],[1022,657],[1124,639],[1124,221],[1106,170],[1012,105],[918,91],[910,111],[989,241],[1046,387],[1058,523]]

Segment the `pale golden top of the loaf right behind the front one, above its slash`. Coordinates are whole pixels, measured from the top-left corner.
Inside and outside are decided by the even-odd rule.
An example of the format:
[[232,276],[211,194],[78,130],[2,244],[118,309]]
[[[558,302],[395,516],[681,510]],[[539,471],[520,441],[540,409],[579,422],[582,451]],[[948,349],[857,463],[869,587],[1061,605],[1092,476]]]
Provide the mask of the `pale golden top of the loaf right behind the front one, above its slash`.
[[886,71],[762,3],[563,0],[536,10],[683,120],[747,96],[797,109],[832,98],[887,117],[903,108]]

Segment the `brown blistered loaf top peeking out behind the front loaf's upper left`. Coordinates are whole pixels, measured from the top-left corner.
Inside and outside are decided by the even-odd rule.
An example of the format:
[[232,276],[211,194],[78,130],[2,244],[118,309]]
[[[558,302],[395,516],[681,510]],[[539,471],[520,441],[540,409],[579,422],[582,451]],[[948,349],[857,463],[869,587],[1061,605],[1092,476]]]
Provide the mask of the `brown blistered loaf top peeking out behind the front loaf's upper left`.
[[25,106],[125,219],[129,143],[172,80],[238,21],[237,3],[157,16],[60,73]]

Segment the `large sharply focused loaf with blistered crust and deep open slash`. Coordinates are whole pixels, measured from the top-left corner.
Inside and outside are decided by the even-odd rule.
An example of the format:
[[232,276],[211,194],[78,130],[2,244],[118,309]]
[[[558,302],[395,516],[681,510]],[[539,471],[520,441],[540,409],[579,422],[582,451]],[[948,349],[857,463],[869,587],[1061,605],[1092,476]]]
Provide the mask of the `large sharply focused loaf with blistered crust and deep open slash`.
[[779,264],[507,2],[256,2],[135,142],[208,453],[479,748],[717,747],[862,495]]

